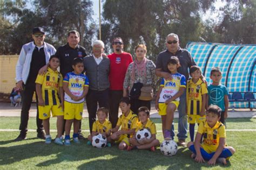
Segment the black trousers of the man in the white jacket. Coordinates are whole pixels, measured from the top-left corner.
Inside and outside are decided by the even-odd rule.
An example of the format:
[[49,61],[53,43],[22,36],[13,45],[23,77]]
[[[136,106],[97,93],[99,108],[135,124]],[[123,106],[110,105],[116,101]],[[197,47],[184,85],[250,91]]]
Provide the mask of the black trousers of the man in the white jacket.
[[[29,110],[31,107],[34,91],[36,91],[36,83],[27,83],[23,86],[21,124],[19,125],[19,130],[21,130],[21,134],[23,136],[25,136],[26,132],[28,131]],[[39,119],[39,115],[38,115],[37,95],[36,95],[36,107],[37,107],[37,115],[36,115],[37,133],[42,133],[44,128],[43,128],[43,122],[41,119]]]

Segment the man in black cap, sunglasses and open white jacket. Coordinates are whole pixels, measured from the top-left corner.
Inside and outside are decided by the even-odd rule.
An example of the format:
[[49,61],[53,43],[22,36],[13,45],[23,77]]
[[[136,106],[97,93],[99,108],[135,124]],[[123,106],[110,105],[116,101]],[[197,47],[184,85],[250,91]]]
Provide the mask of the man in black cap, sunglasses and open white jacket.
[[[36,91],[36,77],[41,67],[49,62],[50,56],[55,54],[56,49],[44,42],[45,34],[42,27],[35,27],[32,33],[32,42],[22,46],[21,53],[16,65],[17,88],[22,89],[22,111],[21,124],[19,125],[19,136],[15,141],[24,140],[28,131],[29,110],[31,107],[32,97]],[[37,103],[37,137],[45,139],[42,120],[38,117],[38,100]]]

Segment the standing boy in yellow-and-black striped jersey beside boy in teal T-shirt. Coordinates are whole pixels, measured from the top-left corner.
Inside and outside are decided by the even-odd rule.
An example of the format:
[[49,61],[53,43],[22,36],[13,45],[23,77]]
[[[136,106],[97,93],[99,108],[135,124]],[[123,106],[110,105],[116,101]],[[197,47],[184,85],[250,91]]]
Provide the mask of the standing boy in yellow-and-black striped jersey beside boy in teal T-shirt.
[[202,72],[200,67],[192,66],[190,76],[187,81],[187,115],[190,124],[190,139],[194,141],[194,126],[205,121],[206,94],[208,93],[206,84],[200,79]]

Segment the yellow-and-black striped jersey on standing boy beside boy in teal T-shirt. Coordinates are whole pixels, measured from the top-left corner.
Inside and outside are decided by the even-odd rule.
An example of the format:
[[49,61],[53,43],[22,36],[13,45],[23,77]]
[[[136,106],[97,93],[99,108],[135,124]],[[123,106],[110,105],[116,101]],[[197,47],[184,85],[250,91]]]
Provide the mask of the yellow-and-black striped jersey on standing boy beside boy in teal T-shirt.
[[206,84],[199,79],[197,83],[191,80],[187,82],[186,100],[187,100],[187,114],[199,115],[202,108],[202,95],[207,94]]

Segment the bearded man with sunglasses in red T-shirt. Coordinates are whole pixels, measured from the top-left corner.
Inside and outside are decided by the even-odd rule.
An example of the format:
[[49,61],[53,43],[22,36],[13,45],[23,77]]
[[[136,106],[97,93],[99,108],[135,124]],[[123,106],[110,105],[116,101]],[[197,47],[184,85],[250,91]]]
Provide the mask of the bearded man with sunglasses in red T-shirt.
[[112,41],[114,52],[108,55],[110,59],[110,101],[109,119],[112,127],[116,127],[118,121],[119,102],[123,97],[123,84],[126,70],[133,61],[132,55],[123,51],[124,42],[122,38],[116,37]]

